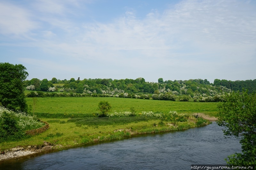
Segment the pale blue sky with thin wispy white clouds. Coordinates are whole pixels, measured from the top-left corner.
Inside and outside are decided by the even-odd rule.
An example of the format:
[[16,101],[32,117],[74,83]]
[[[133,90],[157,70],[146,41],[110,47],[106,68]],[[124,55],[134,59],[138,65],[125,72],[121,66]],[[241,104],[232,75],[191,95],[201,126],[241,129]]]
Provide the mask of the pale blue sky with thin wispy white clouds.
[[256,1],[0,0],[0,62],[28,80],[254,80]]

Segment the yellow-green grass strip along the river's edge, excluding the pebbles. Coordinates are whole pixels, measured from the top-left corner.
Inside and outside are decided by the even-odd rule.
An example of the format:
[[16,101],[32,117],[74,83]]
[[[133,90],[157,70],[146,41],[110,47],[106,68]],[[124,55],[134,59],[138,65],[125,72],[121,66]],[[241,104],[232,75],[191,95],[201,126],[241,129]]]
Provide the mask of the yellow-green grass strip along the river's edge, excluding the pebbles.
[[[176,123],[160,119],[146,119],[140,122],[98,125],[90,124],[90,121],[87,120],[87,123],[78,124],[78,126],[76,126],[77,119],[75,121],[72,119],[59,119],[59,121],[58,119],[42,119],[46,122],[52,122],[49,123],[50,128],[47,131],[21,141],[2,142],[0,150],[6,150],[16,146],[24,148],[27,146],[36,146],[40,148],[44,141],[51,143],[55,149],[65,149],[82,144],[128,138],[135,134],[185,130],[197,127],[196,118],[190,117],[191,119],[193,120]],[[62,121],[66,123],[60,124]],[[122,122],[122,120],[119,119],[119,122]]]

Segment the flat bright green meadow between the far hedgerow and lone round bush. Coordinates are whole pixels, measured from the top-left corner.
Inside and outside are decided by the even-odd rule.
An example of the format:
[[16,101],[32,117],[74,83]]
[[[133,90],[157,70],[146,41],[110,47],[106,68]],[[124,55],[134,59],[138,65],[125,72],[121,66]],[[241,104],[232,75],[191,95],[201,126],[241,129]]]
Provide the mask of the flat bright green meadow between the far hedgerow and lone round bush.
[[[28,105],[33,103],[32,98],[26,98]],[[137,113],[153,111],[168,113],[175,110],[178,113],[204,113],[216,116],[217,103],[177,102],[163,100],[145,100],[116,97],[38,97],[35,112],[38,113],[72,113],[93,114],[98,112],[98,103],[108,101],[112,105],[111,112],[130,111],[134,107]]]

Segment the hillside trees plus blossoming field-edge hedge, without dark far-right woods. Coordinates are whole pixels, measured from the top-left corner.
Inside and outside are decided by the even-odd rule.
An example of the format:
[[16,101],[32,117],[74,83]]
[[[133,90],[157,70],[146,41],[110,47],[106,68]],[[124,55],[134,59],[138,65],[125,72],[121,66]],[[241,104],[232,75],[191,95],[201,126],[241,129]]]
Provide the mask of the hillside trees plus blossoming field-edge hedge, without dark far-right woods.
[[[195,79],[185,81],[163,81],[159,78],[157,83],[146,82],[144,78],[133,79],[84,79],[75,80],[57,80],[58,84],[52,84],[56,82],[56,78],[52,78],[52,81],[44,79],[40,81],[38,85],[38,79],[32,79],[26,81],[24,85],[28,90],[40,89],[41,91],[58,91],[60,93],[41,93],[31,92],[28,97],[121,97],[121,98],[138,98],[138,99],[152,99],[155,100],[177,100],[189,101],[193,98],[194,101],[199,102],[219,102],[221,101],[221,95],[224,92],[231,92],[223,86],[214,87],[207,81],[207,79]],[[42,85],[43,84],[43,85]],[[34,87],[35,86],[35,87]],[[54,86],[54,87],[53,87]],[[47,90],[46,90],[47,89]],[[210,98],[211,96],[212,98]]]

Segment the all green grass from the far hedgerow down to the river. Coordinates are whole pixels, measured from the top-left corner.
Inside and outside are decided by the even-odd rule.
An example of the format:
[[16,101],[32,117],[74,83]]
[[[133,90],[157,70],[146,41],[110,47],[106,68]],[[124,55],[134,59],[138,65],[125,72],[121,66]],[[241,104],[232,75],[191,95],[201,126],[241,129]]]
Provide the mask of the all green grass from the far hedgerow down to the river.
[[[32,98],[26,98],[28,105],[33,105]],[[131,98],[98,98],[98,97],[44,97],[37,98],[36,113],[41,115],[42,121],[49,123],[50,128],[38,135],[21,141],[2,142],[0,151],[12,147],[27,146],[42,147],[44,141],[51,143],[55,149],[65,149],[82,144],[92,144],[131,137],[135,134],[157,133],[164,131],[185,130],[209,124],[204,119],[196,120],[190,116],[186,122],[172,122],[168,119],[156,117],[93,117],[98,112],[98,103],[108,101],[112,105],[111,112],[130,111],[136,113],[153,111],[169,113],[204,113],[216,116],[217,103],[173,102],[158,100],[143,100]],[[82,115],[83,118],[64,118],[65,114]],[[47,118],[51,117],[51,118]],[[71,116],[72,117],[72,116]]]

